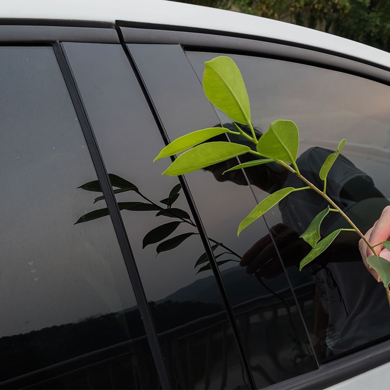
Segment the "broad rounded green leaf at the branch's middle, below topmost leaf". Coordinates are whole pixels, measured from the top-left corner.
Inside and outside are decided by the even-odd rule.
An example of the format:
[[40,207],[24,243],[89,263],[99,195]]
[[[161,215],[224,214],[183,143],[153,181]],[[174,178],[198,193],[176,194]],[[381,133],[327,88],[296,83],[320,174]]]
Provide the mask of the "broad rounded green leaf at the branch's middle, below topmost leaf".
[[291,120],[275,120],[256,146],[262,156],[294,162],[298,156],[299,132]]

